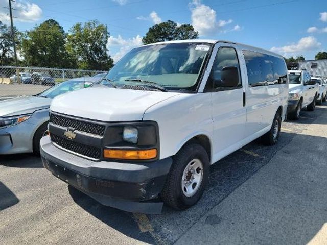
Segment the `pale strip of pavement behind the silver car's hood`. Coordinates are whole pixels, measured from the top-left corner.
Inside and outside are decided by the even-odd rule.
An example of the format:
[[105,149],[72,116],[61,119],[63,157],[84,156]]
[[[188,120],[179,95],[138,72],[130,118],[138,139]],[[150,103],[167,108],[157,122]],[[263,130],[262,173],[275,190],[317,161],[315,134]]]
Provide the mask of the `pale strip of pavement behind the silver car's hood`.
[[0,84],[0,100],[15,97],[38,94],[51,86],[34,84]]

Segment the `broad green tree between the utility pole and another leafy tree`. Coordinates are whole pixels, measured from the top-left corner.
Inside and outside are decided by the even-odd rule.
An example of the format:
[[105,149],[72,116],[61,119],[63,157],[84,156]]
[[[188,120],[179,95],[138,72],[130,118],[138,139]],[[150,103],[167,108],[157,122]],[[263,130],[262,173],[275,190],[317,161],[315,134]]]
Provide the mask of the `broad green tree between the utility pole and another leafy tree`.
[[48,19],[26,33],[22,40],[22,55],[30,66],[68,68],[74,62],[65,48],[66,34],[60,24]]

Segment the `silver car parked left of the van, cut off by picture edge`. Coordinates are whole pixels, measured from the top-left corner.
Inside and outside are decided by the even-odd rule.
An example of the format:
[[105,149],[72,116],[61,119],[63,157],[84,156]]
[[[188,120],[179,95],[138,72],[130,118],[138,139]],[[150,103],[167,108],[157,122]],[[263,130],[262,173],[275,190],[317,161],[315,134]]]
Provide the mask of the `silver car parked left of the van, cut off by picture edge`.
[[47,130],[52,99],[96,81],[98,79],[75,78],[35,96],[0,101],[0,155],[38,153],[40,138]]

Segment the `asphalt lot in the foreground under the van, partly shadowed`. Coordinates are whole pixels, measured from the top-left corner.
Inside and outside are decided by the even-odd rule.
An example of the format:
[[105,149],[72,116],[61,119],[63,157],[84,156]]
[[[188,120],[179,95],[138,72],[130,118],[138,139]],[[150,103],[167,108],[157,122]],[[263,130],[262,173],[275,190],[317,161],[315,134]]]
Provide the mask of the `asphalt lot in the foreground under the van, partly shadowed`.
[[0,156],[0,244],[327,244],[327,103],[211,166],[200,202],[161,215],[105,207],[29,154]]

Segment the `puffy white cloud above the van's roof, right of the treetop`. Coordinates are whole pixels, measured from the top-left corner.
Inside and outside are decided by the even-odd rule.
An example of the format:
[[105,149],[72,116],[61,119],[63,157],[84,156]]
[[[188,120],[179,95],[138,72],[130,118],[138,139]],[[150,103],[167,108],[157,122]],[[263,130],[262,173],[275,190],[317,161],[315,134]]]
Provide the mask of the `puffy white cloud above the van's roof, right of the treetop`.
[[[193,0],[189,4],[191,10],[191,20],[195,31],[199,32],[200,36],[213,35],[217,32],[225,33],[223,27],[227,26],[232,19],[228,20],[216,20],[216,11],[207,5],[201,3],[201,0]],[[239,29],[237,29],[239,30]],[[237,31],[231,29],[229,31]]]

